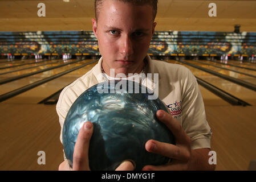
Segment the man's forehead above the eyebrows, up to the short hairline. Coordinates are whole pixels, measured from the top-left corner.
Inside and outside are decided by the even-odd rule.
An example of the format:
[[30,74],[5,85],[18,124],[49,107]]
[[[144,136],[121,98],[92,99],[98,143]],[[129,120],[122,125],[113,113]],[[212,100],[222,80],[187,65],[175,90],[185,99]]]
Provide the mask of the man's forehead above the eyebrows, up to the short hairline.
[[104,0],[98,11],[97,23],[152,24],[151,5],[133,5],[129,2]]

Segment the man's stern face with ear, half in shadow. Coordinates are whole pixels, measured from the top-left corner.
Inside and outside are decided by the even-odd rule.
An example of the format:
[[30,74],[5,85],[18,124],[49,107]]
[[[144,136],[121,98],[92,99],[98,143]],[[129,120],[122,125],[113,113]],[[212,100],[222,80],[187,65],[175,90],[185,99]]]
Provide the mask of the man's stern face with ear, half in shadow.
[[156,26],[151,6],[105,0],[92,25],[107,75],[141,72]]

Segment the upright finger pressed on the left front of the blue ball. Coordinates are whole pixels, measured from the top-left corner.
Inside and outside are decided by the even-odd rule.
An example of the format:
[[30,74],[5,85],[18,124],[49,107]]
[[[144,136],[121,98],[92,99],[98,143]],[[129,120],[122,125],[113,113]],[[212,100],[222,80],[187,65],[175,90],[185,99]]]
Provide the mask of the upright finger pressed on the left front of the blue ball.
[[93,126],[91,122],[86,122],[79,131],[73,154],[73,170],[90,170],[88,151]]

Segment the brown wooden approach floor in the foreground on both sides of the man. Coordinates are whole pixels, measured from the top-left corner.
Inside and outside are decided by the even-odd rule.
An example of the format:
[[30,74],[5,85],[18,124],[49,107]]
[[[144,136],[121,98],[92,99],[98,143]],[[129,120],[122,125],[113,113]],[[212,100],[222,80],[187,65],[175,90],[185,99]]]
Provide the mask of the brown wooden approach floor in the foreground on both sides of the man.
[[[205,105],[217,170],[247,170],[256,159],[256,107]],[[55,105],[0,104],[0,170],[56,170],[63,160]],[[38,165],[38,151],[46,165]]]

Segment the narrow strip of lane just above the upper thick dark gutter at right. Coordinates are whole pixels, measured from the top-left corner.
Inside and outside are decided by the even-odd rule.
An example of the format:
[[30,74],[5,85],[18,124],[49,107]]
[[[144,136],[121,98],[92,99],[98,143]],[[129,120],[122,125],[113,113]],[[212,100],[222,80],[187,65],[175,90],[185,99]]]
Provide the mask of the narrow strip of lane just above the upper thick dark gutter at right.
[[233,72],[233,71],[228,71],[226,69],[216,68],[216,67],[206,65],[206,64],[202,64],[202,63],[197,63],[196,61],[190,61],[190,60],[184,60],[184,61],[186,63],[190,63],[190,64],[198,65],[198,66],[206,68],[206,69],[210,69],[212,71],[221,73],[223,75],[231,76],[233,78],[238,78],[240,80],[250,82],[251,84],[256,84],[256,78],[254,78],[254,77],[250,77],[250,76],[243,75],[243,74],[240,74],[240,73],[236,73],[236,72]]

